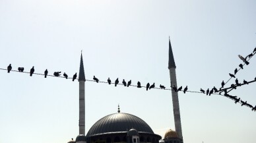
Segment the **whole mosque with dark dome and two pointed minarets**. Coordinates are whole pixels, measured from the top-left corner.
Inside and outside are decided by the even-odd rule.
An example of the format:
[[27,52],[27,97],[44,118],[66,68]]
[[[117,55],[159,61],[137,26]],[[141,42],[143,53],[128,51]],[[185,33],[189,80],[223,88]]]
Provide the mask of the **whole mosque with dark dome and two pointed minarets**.
[[[168,69],[170,70],[171,86],[177,86],[176,64],[170,39]],[[176,131],[172,129],[167,130],[163,139],[160,135],[154,134],[153,130],[143,119],[129,113],[121,113],[119,106],[117,113],[106,115],[96,121],[85,135],[84,82],[84,65],[81,54],[79,70],[79,136],[75,140],[72,138],[68,143],[183,143],[179,100],[177,92],[174,92],[174,90],[172,90],[172,102]]]

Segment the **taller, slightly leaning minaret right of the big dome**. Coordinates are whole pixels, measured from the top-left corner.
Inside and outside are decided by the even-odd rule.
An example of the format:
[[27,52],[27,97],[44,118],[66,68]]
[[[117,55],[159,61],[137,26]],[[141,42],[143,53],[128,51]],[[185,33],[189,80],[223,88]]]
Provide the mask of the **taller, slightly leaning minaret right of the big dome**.
[[[170,80],[171,80],[171,86],[174,85],[177,87],[177,80],[176,80],[176,65],[174,61],[174,54],[172,53],[172,45],[170,42],[169,37],[169,63],[168,63],[168,69],[170,71]],[[182,136],[182,130],[181,130],[181,119],[180,119],[180,113],[179,113],[179,97],[177,96],[177,92],[172,90],[172,105],[174,106],[174,123],[175,123],[175,130],[177,132],[177,135],[181,140],[183,140]]]

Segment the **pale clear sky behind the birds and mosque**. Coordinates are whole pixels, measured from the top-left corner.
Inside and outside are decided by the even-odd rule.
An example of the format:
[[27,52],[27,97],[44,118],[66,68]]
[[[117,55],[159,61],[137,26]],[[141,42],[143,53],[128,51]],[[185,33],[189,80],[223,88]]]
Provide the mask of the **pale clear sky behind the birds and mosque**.
[[[0,68],[170,86],[170,36],[178,86],[220,87],[256,46],[256,1],[0,0]],[[256,76],[256,57],[238,72]],[[234,83],[234,79],[228,85]],[[255,83],[230,92],[256,105]],[[156,134],[174,129],[170,90],[85,83],[86,132],[121,112]],[[256,113],[223,96],[179,93],[184,142],[254,143]],[[79,134],[79,82],[0,71],[0,142],[62,143]]]

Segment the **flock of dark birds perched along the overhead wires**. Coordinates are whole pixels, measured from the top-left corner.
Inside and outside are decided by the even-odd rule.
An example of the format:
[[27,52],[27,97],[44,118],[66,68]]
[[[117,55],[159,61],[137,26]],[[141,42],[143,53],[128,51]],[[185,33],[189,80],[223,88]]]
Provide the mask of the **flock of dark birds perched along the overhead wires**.
[[[243,66],[244,65],[249,65],[249,59],[251,58],[251,57],[253,57],[253,55],[255,55],[255,53],[256,53],[256,47],[255,47],[255,49],[253,50],[253,53],[250,53],[249,55],[247,55],[245,58],[243,57],[243,56],[241,56],[241,55],[238,55],[238,57],[240,57],[240,59],[243,61],[243,63],[244,64],[240,64],[239,65],[239,67],[240,67],[240,69],[243,69]],[[248,60],[247,60],[247,58],[248,58]],[[11,64],[7,67],[7,72],[11,72],[12,71],[12,69],[13,69],[13,67],[11,66]],[[240,69],[235,69],[234,70],[234,74],[231,74],[230,73],[230,79],[231,78],[236,78],[236,73],[240,70]],[[5,69],[6,70],[6,69]],[[30,76],[32,76],[32,74],[34,74],[34,67],[32,67],[32,69],[30,69]],[[24,72],[24,67],[18,67],[18,72]],[[44,74],[42,74],[42,75],[44,75],[44,77],[46,78],[47,76],[48,76],[48,70],[46,69],[46,71],[44,71]],[[57,71],[57,72],[53,72],[53,75],[54,76],[61,76],[61,72],[60,71]],[[63,76],[67,79],[67,78],[69,78],[68,77],[68,75],[64,72],[63,73]],[[77,72],[73,75],[73,78],[72,78],[72,80],[74,81],[75,79],[77,79]],[[103,82],[103,81],[100,81],[98,78],[96,78],[96,76],[93,76],[93,80],[88,80],[88,81],[94,81],[94,82]],[[229,80],[228,80],[229,81]],[[228,82],[227,81],[227,82]],[[256,77],[255,77],[255,79],[254,80],[252,80],[251,82],[255,82],[256,81]],[[227,83],[226,82],[226,83]],[[247,103],[247,101],[243,101],[243,100],[241,100],[240,98],[238,98],[237,96],[231,96],[230,94],[228,94],[228,92],[230,92],[231,90],[233,90],[233,89],[236,89],[238,86],[242,86],[242,85],[244,85],[244,84],[249,84],[249,83],[251,83],[251,82],[247,82],[246,80],[243,80],[243,84],[241,84],[241,83],[239,83],[238,82],[238,78],[236,78],[236,84],[231,84],[231,86],[229,87],[229,88],[224,88],[224,86],[225,86],[225,82],[224,82],[224,80],[222,80],[222,83],[221,83],[221,88],[218,90],[217,88],[215,88],[215,86],[211,89],[211,90],[209,90],[209,88],[207,89],[207,91],[205,92],[205,90],[203,90],[202,88],[201,88],[201,90],[200,90],[200,92],[199,93],[203,93],[203,94],[207,94],[207,96],[210,96],[211,94],[216,94],[216,93],[218,93],[218,94],[220,94],[221,95],[221,93],[222,92],[224,92],[224,96],[225,97],[227,97],[227,98],[230,98],[230,99],[232,99],[232,100],[234,100],[235,101],[235,103],[238,103],[238,102],[241,102],[241,106],[243,106],[243,105],[246,105],[247,107],[251,107],[252,109],[252,111],[254,110],[254,111],[256,111],[256,105],[255,105],[255,107],[253,107],[251,104],[249,104],[249,103]],[[107,82],[104,82],[104,83],[108,83],[108,84],[112,84],[112,81],[110,80],[110,78],[108,78],[108,80],[107,80]],[[115,82],[113,83],[113,84],[115,84],[115,86],[117,86],[117,84],[119,84],[119,79],[117,78],[116,80],[115,80]],[[127,87],[129,87],[129,86],[134,86],[134,85],[131,85],[131,80],[129,80],[128,82],[126,82],[125,81],[125,79],[123,79],[123,81],[122,81],[122,84],[123,84],[123,86],[127,86]],[[144,87],[144,88],[146,88],[146,90],[150,90],[150,89],[152,89],[152,88],[156,88],[155,87],[155,83],[153,83],[153,84],[151,84],[150,85],[150,83],[147,83],[146,84],[146,86],[141,86],[141,82],[137,82],[137,88],[142,88],[142,87]],[[158,89],[163,89],[163,90],[174,90],[174,92],[179,92],[179,91],[183,91],[183,93],[185,94],[186,92],[191,92],[191,91],[187,91],[188,90],[188,88],[187,88],[187,86],[184,88],[184,90],[182,90],[182,86],[180,86],[179,88],[177,88],[175,85],[174,86],[171,86],[171,88],[172,89],[166,89],[166,87],[165,86],[163,86],[162,84],[160,84],[160,86],[159,86],[160,88],[158,88]],[[227,91],[228,89],[230,89],[229,91]]]

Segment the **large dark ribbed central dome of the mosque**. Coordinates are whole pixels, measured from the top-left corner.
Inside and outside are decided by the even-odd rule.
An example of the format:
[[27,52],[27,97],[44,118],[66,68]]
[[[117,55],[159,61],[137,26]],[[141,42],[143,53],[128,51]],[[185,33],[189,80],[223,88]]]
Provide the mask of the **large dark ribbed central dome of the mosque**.
[[137,132],[154,134],[148,124],[135,115],[129,113],[113,113],[97,121],[88,131],[86,136],[96,136],[114,132],[128,132],[136,129]]

